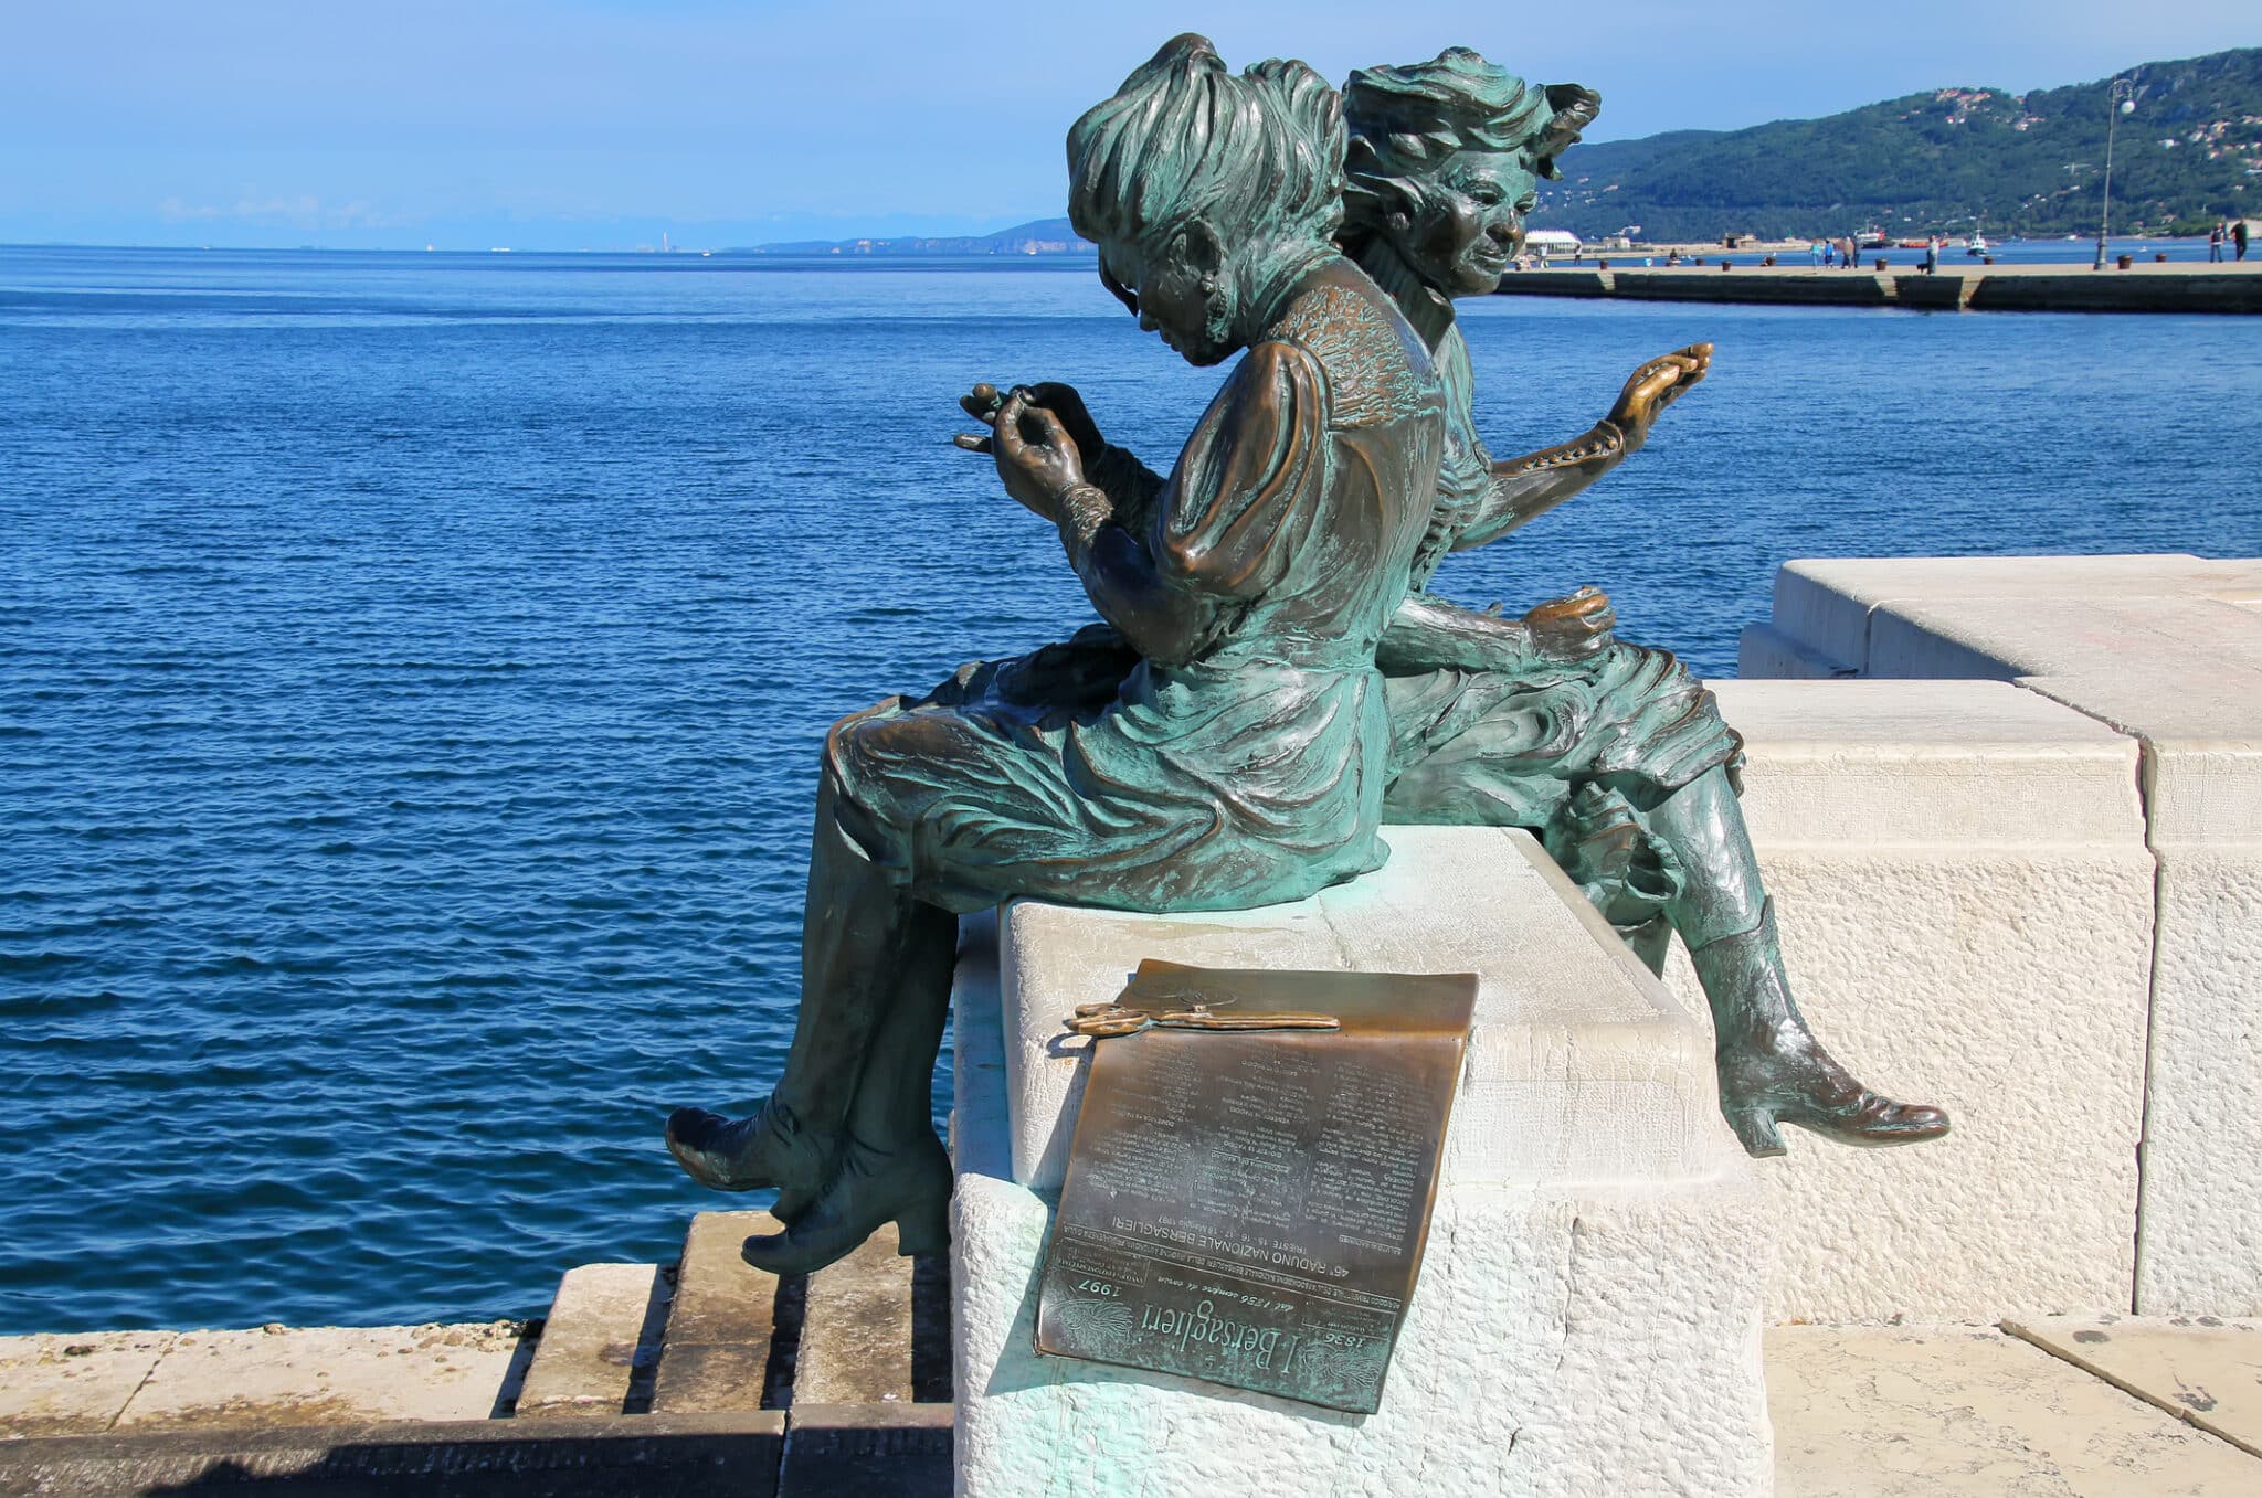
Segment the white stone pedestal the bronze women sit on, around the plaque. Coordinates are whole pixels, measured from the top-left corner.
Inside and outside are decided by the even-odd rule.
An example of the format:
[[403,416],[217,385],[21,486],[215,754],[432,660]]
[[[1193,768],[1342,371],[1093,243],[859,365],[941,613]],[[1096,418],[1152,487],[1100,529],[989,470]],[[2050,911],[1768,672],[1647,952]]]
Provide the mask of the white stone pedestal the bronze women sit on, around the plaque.
[[[1706,1028],[1525,834],[1391,827],[1314,899],[1140,917],[1016,902],[968,924],[952,1243],[959,1491],[1771,1491],[1769,1245]],[[1477,1019],[1382,1410],[1034,1351],[1079,1051],[1061,1019],[1140,958],[1475,972]],[[1065,1044],[1063,1044],[1065,1042]]]

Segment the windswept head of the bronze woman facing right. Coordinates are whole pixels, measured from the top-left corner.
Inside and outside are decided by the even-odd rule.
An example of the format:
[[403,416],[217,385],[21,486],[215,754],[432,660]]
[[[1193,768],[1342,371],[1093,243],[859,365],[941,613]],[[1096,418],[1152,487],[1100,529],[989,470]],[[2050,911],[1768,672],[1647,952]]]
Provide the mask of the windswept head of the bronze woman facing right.
[[1387,239],[1448,296],[1479,296],[1522,249],[1538,178],[1601,108],[1577,84],[1534,86],[1468,47],[1359,68],[1344,86],[1344,237]]

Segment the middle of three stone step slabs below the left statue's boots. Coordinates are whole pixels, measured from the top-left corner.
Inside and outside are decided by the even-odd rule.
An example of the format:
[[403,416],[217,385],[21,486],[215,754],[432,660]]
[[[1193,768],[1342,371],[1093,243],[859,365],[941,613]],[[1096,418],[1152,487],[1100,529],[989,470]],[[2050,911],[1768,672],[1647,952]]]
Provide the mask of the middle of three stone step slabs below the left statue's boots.
[[[740,1256],[783,1225],[767,1211],[701,1211],[683,1236],[676,1295],[651,1381],[654,1414],[776,1410],[794,1376],[798,1279],[780,1283]],[[776,1335],[778,1331],[789,1335]]]

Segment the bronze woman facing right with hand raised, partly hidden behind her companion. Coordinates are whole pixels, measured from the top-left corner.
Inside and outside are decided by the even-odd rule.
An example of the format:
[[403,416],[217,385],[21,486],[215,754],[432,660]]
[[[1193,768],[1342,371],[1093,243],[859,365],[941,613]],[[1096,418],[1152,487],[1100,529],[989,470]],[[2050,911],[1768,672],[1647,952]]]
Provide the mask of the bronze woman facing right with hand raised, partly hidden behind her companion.
[[1588,434],[1522,459],[1495,463],[1475,432],[1452,298],[1500,285],[1538,178],[1599,106],[1592,90],[1534,88],[1464,47],[1353,72],[1344,88],[1344,244],[1423,334],[1445,389],[1436,506],[1380,646],[1384,820],[1531,829],[1654,972],[1678,931],[1712,1008],[1721,1114],[1751,1155],[1782,1152],[1778,1123],[1844,1143],[1934,1139],[1945,1114],[1864,1089],[1792,1001],[1737,807],[1742,741],[1712,694],[1669,653],[1615,639],[1601,594],[1500,619],[1427,592],[1445,554],[1615,468],[1710,366],[1706,343],[1654,359]]

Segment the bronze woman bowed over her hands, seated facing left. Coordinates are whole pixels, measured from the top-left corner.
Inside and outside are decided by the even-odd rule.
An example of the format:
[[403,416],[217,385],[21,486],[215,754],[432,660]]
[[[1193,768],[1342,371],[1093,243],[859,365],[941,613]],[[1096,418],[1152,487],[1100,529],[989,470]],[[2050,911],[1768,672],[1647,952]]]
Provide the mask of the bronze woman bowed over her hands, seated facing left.
[[1387,856],[1375,644],[1430,522],[1443,398],[1335,244],[1341,140],[1310,68],[1235,77],[1199,36],[1070,131],[1070,215],[1111,289],[1194,364],[1249,352],[1169,479],[1065,386],[968,398],[991,425],[968,445],[1059,526],[1111,633],[832,728],[785,1075],[753,1118],[667,1127],[697,1179],[780,1188],[789,1227],[753,1263],[814,1270],[889,1220],[907,1254],[943,1243],[930,1075],[961,913],[1258,906]]

